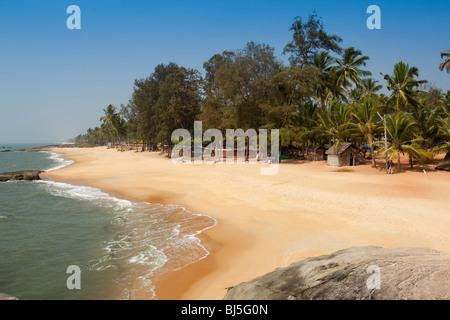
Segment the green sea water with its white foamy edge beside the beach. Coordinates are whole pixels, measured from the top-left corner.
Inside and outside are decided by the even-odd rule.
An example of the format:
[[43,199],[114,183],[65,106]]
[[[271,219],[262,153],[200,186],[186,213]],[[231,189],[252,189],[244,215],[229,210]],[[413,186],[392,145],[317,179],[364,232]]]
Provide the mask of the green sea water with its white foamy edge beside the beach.
[[[51,152],[0,152],[0,172],[70,164]],[[197,235],[215,224],[180,206],[134,203],[84,185],[0,183],[0,293],[129,299],[139,292],[157,299],[154,277],[205,258]],[[73,265],[81,270],[81,289],[67,287]]]

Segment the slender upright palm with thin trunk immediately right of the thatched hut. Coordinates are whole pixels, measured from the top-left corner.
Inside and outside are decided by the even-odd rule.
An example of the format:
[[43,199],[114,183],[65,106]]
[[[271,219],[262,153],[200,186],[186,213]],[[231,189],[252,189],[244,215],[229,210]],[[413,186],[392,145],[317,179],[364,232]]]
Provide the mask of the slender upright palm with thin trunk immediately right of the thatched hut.
[[374,99],[365,98],[360,103],[353,105],[353,118],[355,123],[352,124],[357,132],[364,136],[365,141],[369,144],[372,155],[372,167],[376,168],[374,156],[374,137],[380,131],[378,112],[380,105]]

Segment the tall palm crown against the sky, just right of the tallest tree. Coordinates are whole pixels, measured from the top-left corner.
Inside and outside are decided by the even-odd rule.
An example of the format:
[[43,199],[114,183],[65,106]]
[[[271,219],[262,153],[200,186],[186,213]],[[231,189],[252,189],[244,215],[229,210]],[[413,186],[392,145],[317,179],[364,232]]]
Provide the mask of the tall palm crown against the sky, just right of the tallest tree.
[[336,59],[337,66],[332,69],[336,71],[337,82],[345,88],[347,92],[347,101],[350,101],[349,87],[352,84],[357,87],[361,86],[361,76],[370,76],[370,71],[361,70],[361,66],[365,66],[368,56],[363,56],[361,50],[354,47],[345,49],[341,59]]

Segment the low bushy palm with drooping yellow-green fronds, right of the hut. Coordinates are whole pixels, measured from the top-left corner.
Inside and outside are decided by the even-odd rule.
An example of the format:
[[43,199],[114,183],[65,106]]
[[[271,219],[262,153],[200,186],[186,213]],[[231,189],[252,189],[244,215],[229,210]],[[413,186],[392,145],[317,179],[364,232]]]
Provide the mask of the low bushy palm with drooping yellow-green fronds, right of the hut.
[[425,150],[423,138],[416,135],[417,123],[404,113],[397,112],[386,117],[388,148],[385,150],[384,142],[375,144],[380,147],[379,152],[387,155],[390,161],[398,159],[398,170],[401,170],[400,157],[408,154],[411,159],[424,163],[432,158],[432,154]]

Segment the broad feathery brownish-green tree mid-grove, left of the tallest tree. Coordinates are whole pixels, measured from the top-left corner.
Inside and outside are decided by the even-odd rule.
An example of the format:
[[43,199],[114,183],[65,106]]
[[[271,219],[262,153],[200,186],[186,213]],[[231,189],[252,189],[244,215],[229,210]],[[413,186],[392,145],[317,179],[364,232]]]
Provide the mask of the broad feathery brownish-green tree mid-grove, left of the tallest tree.
[[[216,128],[258,128],[272,98],[272,77],[281,64],[274,48],[249,42],[242,50],[214,55],[204,65],[206,98],[200,119]],[[218,112],[220,117],[212,115]]]

